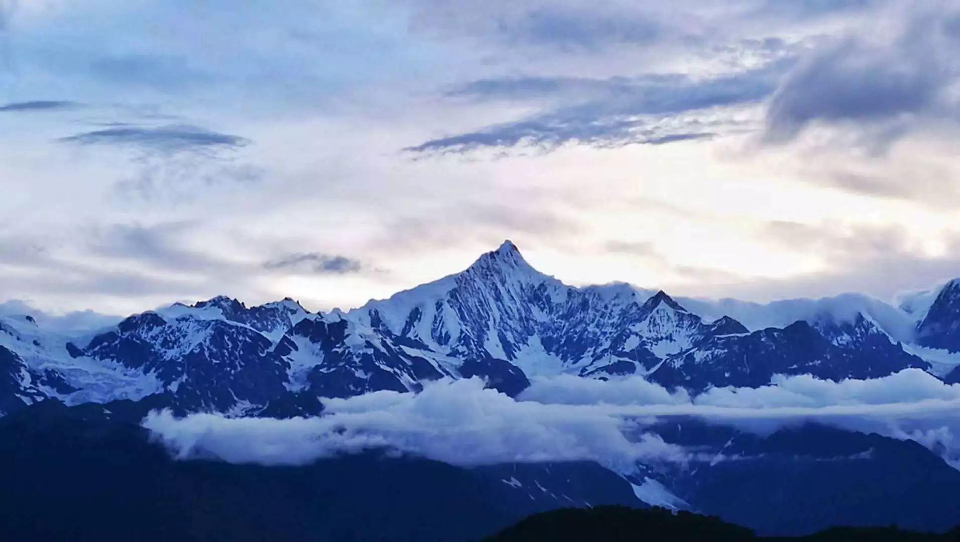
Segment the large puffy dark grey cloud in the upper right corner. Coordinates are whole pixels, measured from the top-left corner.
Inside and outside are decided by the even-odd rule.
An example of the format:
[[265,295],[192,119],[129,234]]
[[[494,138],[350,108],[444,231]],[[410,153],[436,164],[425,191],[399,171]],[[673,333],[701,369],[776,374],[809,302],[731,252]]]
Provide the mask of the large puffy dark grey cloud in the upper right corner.
[[956,121],[960,104],[948,97],[960,80],[954,20],[954,12],[920,12],[888,41],[852,36],[816,51],[772,97],[765,140],[789,141],[814,122],[847,123],[882,150],[919,123]]

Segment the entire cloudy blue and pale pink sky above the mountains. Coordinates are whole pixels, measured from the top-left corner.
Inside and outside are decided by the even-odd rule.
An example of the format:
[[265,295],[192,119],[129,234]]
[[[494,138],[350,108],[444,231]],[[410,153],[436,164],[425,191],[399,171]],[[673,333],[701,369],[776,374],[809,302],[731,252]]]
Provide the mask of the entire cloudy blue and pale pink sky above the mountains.
[[0,0],[0,300],[960,276],[960,2]]

